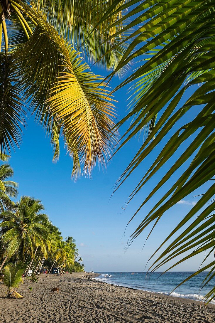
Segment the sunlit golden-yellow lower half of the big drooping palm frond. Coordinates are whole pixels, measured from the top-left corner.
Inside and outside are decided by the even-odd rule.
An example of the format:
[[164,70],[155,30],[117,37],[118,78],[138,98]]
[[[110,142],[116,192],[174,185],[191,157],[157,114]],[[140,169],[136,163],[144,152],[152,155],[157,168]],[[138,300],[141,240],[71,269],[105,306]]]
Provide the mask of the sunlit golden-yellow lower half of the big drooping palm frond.
[[80,161],[84,161],[84,172],[90,173],[96,161],[103,161],[103,155],[109,153],[111,142],[107,133],[114,125],[114,105],[113,99],[107,98],[108,90],[99,84],[103,78],[90,72],[71,47],[68,54],[67,71],[57,77],[47,102],[53,116],[55,157],[62,126],[67,149],[73,157],[73,175],[77,177]]

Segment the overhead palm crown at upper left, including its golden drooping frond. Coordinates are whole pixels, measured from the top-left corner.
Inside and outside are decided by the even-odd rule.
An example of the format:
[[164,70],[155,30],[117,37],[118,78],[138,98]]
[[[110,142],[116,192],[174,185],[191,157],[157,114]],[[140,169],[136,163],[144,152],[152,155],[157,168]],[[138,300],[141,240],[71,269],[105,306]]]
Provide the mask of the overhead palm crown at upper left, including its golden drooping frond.
[[[25,124],[24,99],[31,100],[36,120],[50,134],[54,160],[59,157],[59,136],[63,135],[73,158],[74,176],[80,173],[80,161],[87,173],[108,155],[111,132],[107,132],[114,125],[114,101],[107,97],[109,90],[104,89],[103,78],[90,71],[79,52],[92,63],[116,68],[127,47],[125,42],[113,48],[124,35],[112,37],[122,29],[121,13],[94,28],[112,3],[1,1],[0,92],[4,109],[0,151],[19,145]],[[111,26],[118,21],[117,26]]]

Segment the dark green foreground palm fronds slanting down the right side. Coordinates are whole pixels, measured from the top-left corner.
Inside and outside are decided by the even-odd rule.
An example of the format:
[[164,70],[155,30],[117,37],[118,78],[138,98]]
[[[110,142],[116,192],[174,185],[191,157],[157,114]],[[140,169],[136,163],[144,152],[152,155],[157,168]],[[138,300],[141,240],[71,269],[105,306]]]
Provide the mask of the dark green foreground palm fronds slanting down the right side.
[[[176,234],[175,240],[166,246],[165,251],[150,267],[151,270],[156,270],[175,257],[181,257],[169,267],[170,269],[201,252],[207,252],[204,259],[206,260],[214,252],[215,247],[213,214],[215,5],[211,0],[156,2],[134,0],[132,7],[130,4],[130,1],[123,4],[119,0],[115,1],[99,21],[101,24],[104,19],[108,17],[111,19],[112,10],[116,5],[119,5],[117,12],[130,9],[125,16],[122,16],[121,21],[124,22],[129,18],[131,22],[124,31],[133,27],[134,32],[128,37],[131,43],[114,73],[125,67],[132,59],[138,59],[138,63],[134,72],[124,78],[115,89],[129,84],[133,92],[130,103],[132,109],[117,124],[118,128],[128,118],[132,118],[132,123],[122,137],[118,149],[142,129],[147,133],[132,161],[121,175],[117,188],[145,162],[148,155],[156,154],[156,157],[153,155],[150,168],[138,180],[138,185],[131,192],[128,201],[146,186],[151,177],[156,179],[162,166],[164,170],[163,177],[160,180],[158,176],[159,182],[156,182],[153,190],[144,197],[134,215],[149,200],[154,201],[155,193],[161,188],[162,197],[144,216],[131,235],[130,242],[148,225],[153,223],[154,228],[162,215],[176,203],[193,194],[196,189],[201,187],[202,190],[199,201],[193,203],[192,209],[185,214],[175,229],[168,233],[161,246],[168,243],[174,234]],[[118,32],[113,36],[117,34]],[[124,40],[120,45],[123,42]],[[118,44],[114,48],[117,47]],[[185,103],[181,103],[185,92],[188,97]],[[196,105],[198,107],[194,108]],[[183,165],[184,168],[181,168]],[[171,183],[170,188],[166,190],[167,186],[164,185],[172,176],[175,176],[176,180],[174,179],[173,184]],[[206,183],[207,185],[202,187]],[[182,233],[179,234],[182,226]],[[189,278],[204,270],[210,270],[203,282],[207,284],[214,276],[215,260],[204,263]],[[211,289],[206,299],[215,297],[214,290]]]

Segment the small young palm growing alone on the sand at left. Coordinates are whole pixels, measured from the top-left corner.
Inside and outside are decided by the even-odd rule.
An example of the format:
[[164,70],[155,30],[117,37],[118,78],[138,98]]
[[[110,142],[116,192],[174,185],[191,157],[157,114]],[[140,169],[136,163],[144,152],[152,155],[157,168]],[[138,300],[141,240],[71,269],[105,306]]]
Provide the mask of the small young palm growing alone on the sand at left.
[[14,288],[23,284],[22,274],[24,273],[25,267],[21,264],[13,265],[8,264],[3,270],[3,284],[7,287],[7,297],[10,298],[23,298],[22,295],[17,293]]

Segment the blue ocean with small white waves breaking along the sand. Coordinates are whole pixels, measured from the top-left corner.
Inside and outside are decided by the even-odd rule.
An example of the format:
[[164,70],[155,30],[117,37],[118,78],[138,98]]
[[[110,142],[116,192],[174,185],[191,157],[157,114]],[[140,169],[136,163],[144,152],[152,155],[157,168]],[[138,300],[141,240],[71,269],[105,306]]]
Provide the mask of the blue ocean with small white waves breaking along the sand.
[[[201,284],[207,272],[203,272],[184,283],[172,292],[172,290],[193,272],[154,272],[149,275],[146,272],[99,272],[95,278],[108,284],[141,289],[152,293],[159,293],[175,297],[190,298],[197,301],[204,300],[204,295],[215,286],[215,278],[201,289]],[[215,304],[215,299],[211,300]]]

